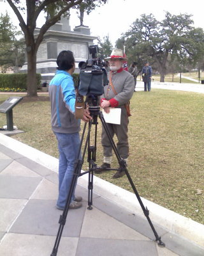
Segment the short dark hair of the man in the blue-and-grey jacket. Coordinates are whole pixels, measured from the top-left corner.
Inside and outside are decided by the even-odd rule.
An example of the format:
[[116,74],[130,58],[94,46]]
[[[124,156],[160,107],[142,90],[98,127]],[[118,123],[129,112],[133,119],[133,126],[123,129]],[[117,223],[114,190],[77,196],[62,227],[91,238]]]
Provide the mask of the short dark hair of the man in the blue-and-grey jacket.
[[75,65],[75,58],[71,51],[61,51],[57,56],[57,69],[69,70]]

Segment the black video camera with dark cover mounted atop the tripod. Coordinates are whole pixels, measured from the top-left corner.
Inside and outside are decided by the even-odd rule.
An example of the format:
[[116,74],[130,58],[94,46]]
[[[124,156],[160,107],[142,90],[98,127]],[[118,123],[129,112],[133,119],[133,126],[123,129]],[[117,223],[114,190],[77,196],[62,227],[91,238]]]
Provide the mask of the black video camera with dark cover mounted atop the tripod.
[[97,58],[98,45],[90,45],[89,53],[92,54],[92,59],[78,64],[80,68],[78,92],[83,96],[99,96],[103,94],[103,86],[108,83],[105,62]]

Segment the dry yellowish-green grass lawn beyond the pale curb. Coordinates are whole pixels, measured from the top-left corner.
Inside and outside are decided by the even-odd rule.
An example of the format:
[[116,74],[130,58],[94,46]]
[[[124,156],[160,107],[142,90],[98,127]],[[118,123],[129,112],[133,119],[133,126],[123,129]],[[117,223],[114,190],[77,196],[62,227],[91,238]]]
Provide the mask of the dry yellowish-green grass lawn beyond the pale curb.
[[[5,99],[8,95],[0,94],[0,101]],[[140,196],[204,224],[203,100],[201,93],[156,89],[134,93],[128,170]],[[13,109],[13,120],[18,129],[25,131],[13,138],[58,157],[57,142],[50,129],[49,101],[22,100]],[[4,124],[6,115],[1,114],[0,127]],[[100,137],[101,124],[97,164],[103,159]],[[115,157],[112,166],[117,167]],[[86,161],[83,168],[87,168]],[[125,176],[115,180],[113,173],[97,176],[132,191]]]

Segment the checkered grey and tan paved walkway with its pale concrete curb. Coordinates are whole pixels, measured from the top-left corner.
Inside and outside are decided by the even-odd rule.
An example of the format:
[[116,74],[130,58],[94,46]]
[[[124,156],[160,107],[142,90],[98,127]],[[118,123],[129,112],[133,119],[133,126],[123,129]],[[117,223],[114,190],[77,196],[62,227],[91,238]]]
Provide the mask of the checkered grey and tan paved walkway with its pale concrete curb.
[[[48,256],[52,253],[62,214],[55,208],[57,164],[54,157],[0,134],[0,255]],[[83,196],[83,207],[68,212],[59,256],[204,255],[204,226],[195,221],[192,227],[188,223],[189,230],[186,230],[192,239],[176,234],[171,223],[173,212],[142,198],[157,233],[166,244],[166,248],[161,248],[153,241],[152,229],[133,193],[94,177],[90,211],[87,209],[87,175],[84,175],[78,179],[77,195]],[[179,225],[180,230],[186,228],[182,221]]]

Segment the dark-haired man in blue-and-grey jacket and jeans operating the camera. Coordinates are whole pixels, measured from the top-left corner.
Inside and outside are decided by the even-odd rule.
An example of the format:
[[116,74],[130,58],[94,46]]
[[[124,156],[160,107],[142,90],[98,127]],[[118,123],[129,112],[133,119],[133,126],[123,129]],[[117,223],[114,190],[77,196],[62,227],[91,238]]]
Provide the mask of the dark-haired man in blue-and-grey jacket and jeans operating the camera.
[[[59,148],[59,196],[57,209],[64,210],[66,198],[73,178],[75,160],[80,147],[80,120],[75,118],[75,86],[73,77],[75,58],[73,52],[62,51],[57,57],[57,72],[50,81],[48,92],[51,102],[52,131],[58,141]],[[89,111],[84,109],[82,120],[91,120]],[[77,184],[75,184],[76,186]],[[69,209],[82,207],[81,196],[71,196]]]

